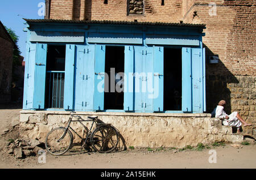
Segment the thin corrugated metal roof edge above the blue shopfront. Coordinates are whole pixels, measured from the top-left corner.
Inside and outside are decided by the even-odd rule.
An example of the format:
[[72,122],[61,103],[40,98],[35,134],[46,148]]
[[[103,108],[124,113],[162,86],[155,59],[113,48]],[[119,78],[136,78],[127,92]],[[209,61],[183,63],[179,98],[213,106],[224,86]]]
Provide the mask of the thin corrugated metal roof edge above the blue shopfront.
[[205,24],[187,24],[187,23],[126,22],[126,21],[112,21],[112,20],[60,20],[60,19],[24,19],[24,20],[26,20],[27,23],[137,24],[137,25],[164,25],[164,26],[177,26],[177,27],[201,27],[201,28],[205,28]]

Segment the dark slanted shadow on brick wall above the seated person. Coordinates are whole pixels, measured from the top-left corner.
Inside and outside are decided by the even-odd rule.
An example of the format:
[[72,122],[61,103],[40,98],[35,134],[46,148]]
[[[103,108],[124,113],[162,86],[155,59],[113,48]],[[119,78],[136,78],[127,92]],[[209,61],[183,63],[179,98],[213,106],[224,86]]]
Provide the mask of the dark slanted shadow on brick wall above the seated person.
[[207,113],[216,108],[220,100],[226,101],[225,112],[231,113],[231,91],[228,88],[230,83],[239,83],[237,78],[226,68],[221,59],[218,63],[209,63],[209,55],[214,53],[205,45],[206,54],[206,95]]

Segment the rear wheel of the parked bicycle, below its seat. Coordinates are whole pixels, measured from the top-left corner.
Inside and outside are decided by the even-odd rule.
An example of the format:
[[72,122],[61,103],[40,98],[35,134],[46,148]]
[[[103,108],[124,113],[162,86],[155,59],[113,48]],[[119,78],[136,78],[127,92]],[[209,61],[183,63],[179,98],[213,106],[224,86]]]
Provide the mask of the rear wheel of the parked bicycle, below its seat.
[[92,147],[100,153],[109,153],[117,148],[118,133],[113,126],[99,126],[90,136]]

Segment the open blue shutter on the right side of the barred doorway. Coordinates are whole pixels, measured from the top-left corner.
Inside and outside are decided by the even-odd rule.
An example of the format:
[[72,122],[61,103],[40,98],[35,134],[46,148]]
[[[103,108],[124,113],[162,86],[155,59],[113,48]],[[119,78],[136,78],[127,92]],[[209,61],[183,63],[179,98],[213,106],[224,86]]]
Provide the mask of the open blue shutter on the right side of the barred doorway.
[[75,45],[66,45],[64,109],[73,109]]

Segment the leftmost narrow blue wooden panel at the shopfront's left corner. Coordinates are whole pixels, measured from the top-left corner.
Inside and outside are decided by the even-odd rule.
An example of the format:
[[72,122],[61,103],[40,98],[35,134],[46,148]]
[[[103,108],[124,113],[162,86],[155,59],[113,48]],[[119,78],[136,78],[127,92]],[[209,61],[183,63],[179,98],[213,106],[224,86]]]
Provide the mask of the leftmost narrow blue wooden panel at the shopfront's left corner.
[[34,97],[36,44],[27,44],[27,54],[24,72],[23,109],[32,109]]

